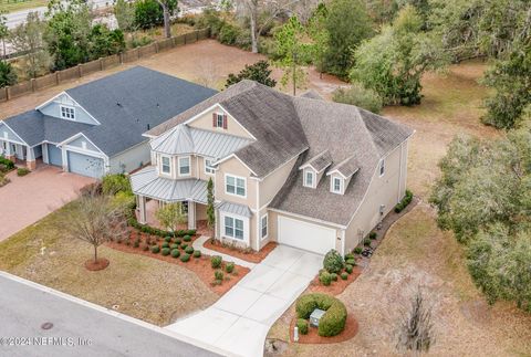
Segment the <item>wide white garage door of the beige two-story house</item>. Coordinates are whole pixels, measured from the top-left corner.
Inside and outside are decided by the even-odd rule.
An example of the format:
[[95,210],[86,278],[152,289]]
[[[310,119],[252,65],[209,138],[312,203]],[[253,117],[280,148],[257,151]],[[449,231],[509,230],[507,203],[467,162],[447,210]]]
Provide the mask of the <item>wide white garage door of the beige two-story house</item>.
[[279,216],[279,243],[326,254],[335,249],[335,230]]

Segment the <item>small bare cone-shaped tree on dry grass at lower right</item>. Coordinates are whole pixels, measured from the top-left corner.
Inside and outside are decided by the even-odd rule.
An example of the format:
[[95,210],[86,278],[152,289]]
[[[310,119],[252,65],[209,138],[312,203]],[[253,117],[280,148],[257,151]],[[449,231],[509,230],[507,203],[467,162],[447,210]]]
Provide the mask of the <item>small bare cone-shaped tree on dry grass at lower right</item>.
[[404,311],[397,328],[399,350],[410,350],[413,355],[428,351],[435,343],[431,306],[425,295],[417,288],[409,309]]

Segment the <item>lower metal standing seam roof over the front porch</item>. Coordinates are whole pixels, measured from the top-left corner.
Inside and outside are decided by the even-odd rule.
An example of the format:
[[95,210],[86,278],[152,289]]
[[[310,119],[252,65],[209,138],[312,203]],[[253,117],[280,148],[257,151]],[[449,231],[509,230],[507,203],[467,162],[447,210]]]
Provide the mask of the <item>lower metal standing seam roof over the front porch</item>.
[[135,195],[146,196],[165,202],[192,200],[207,203],[207,181],[198,179],[170,179],[159,177],[154,166],[131,175]]

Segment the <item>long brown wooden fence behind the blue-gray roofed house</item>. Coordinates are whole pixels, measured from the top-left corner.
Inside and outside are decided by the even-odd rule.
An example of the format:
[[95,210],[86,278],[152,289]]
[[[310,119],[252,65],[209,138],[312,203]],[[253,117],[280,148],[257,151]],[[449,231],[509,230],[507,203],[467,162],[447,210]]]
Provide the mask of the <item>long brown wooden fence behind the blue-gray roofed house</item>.
[[10,101],[28,93],[33,93],[42,88],[59,85],[63,82],[69,82],[74,78],[81,78],[84,75],[97,71],[104,71],[123,63],[138,61],[142,57],[150,56],[155,53],[167,51],[179,45],[194,43],[207,38],[208,29],[196,30],[170,39],[155,41],[148,45],[128,50],[121,54],[114,54],[92,62],[82,63],[67,70],[56,71],[30,81],[0,88],[0,102]]

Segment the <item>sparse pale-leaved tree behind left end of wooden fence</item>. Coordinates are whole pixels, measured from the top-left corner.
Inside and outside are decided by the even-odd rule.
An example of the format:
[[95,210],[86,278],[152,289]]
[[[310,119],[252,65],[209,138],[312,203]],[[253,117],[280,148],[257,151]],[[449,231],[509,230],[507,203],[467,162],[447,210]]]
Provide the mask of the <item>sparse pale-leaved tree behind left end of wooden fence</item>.
[[31,78],[48,73],[52,59],[45,50],[45,23],[38,12],[29,12],[25,22],[14,28],[9,41],[17,52],[25,53],[20,60],[20,69]]

